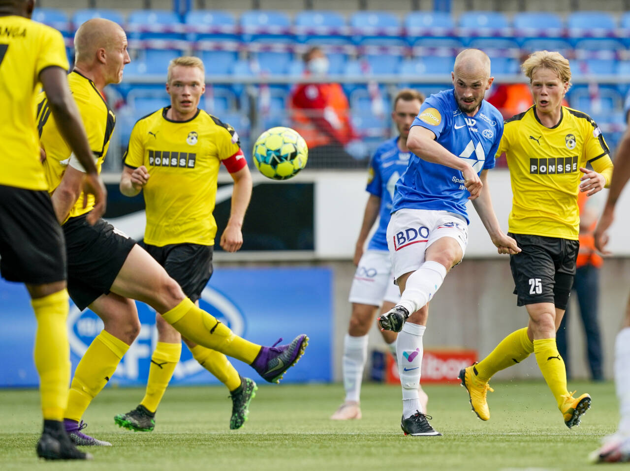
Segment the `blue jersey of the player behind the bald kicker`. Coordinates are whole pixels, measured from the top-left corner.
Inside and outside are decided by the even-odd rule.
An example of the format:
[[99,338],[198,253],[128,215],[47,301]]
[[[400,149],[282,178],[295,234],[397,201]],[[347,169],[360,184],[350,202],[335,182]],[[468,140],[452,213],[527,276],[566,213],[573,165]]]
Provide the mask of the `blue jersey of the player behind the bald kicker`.
[[387,251],[387,224],[391,217],[394,186],[409,163],[411,152],[398,148],[398,137],[386,140],[376,149],[370,162],[366,191],[381,198],[379,227],[367,248]]

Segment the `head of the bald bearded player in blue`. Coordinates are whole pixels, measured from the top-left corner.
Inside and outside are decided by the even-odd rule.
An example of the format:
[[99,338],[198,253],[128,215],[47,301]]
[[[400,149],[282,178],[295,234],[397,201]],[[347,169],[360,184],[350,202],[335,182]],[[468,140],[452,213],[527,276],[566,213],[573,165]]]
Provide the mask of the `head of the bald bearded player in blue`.
[[464,49],[457,54],[451,74],[457,105],[464,113],[474,115],[490,88],[490,57],[479,49]]

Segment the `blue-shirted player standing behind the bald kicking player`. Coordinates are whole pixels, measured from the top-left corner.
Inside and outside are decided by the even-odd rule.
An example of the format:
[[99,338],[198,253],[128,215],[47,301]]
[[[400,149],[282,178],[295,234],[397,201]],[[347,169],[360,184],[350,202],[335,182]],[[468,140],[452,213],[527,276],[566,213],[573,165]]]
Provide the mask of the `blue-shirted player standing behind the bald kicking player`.
[[[424,99],[421,93],[412,89],[403,89],[396,94],[392,120],[396,123],[399,135],[381,144],[370,162],[365,188],[370,196],[365,205],[363,224],[353,259],[357,271],[350,288],[352,315],[348,333],[343,341],[343,387],[346,397],[343,404],[330,417],[333,420],[361,418],[359,397],[367,360],[367,335],[379,306],[382,304],[381,313],[384,313],[394,307],[400,299],[400,292],[394,285],[394,275],[391,273],[386,231],[392,209],[394,185],[407,168],[411,156],[407,148],[409,129]],[[370,239],[367,251],[364,252],[365,241],[377,217],[379,225]],[[382,331],[382,335],[395,358],[396,334]],[[420,397],[421,410],[426,413],[428,398],[421,389]]]

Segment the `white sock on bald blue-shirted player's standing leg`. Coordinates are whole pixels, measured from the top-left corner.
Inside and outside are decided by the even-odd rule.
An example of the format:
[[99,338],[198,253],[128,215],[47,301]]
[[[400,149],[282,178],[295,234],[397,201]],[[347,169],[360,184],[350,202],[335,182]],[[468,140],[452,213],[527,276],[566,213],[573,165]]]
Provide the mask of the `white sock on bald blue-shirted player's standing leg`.
[[422,336],[425,326],[405,322],[403,330],[396,338],[398,373],[403,388],[403,417],[413,416],[416,411],[424,412],[418,399],[420,371],[422,369]]

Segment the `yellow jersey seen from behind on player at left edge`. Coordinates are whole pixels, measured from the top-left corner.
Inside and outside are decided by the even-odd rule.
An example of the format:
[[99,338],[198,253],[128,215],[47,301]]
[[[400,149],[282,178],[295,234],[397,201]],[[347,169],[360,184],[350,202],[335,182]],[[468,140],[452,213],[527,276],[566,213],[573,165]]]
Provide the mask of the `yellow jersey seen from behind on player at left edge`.
[[47,67],[68,69],[59,31],[23,16],[0,16],[0,184],[46,190],[33,103]]

